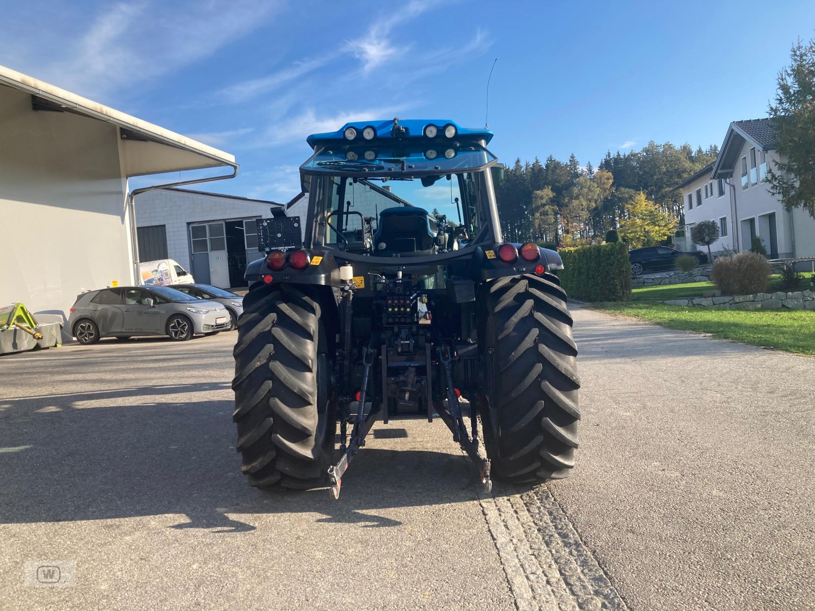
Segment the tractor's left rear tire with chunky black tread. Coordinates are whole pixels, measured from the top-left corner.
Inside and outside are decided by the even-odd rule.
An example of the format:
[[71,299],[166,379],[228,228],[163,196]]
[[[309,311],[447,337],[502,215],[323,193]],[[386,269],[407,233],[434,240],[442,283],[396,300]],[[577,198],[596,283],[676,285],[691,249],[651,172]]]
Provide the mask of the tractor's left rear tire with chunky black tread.
[[232,380],[241,470],[262,489],[324,486],[336,421],[316,293],[264,286],[249,292],[244,308]]

